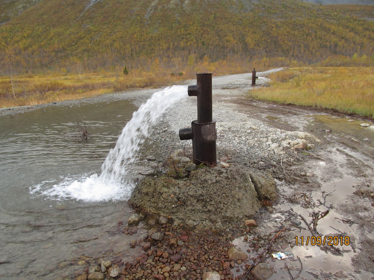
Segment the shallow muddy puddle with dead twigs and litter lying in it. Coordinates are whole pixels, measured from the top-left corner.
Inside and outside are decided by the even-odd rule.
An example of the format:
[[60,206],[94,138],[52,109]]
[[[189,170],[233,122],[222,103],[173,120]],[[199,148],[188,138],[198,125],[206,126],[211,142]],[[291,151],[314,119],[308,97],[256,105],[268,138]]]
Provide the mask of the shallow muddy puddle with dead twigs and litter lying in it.
[[[288,189],[287,184],[277,181],[278,189],[280,192],[289,196],[292,192]],[[357,183],[355,178],[343,177],[332,183],[324,184],[321,190],[307,193],[307,204],[297,203],[295,204],[286,202],[280,203],[275,208],[275,212],[270,215],[269,220],[266,223],[282,223],[286,227],[291,227],[292,233],[289,237],[294,236],[294,240],[289,240],[289,243],[285,243],[282,248],[277,245],[273,245],[273,250],[269,253],[276,252],[292,252],[294,258],[288,258],[284,260],[273,259],[271,256],[266,259],[275,272],[269,279],[290,279],[289,271],[286,269],[285,264],[288,265],[292,275],[295,277],[300,271],[300,261],[303,263],[303,270],[300,273],[300,279],[339,279],[342,276],[339,270],[343,271],[343,278],[345,279],[362,279],[367,280],[372,277],[370,273],[366,271],[355,270],[351,264],[351,259],[355,256],[359,249],[356,248],[358,243],[357,232],[359,231],[358,225],[349,217],[339,214],[335,211],[334,207],[330,207],[333,203],[342,202],[347,196],[354,192],[353,184]],[[302,194],[302,193],[298,193]],[[303,208],[303,205],[306,208]],[[293,214],[291,211],[293,209]],[[312,233],[309,230],[308,225],[303,219],[296,214],[300,214],[303,218],[310,223],[312,221],[312,214],[314,212],[320,212],[321,214],[328,211],[325,217],[318,220],[316,226],[316,237],[312,238]],[[300,226],[295,226],[290,223],[291,220],[298,220],[301,222]],[[310,224],[313,227],[313,223]],[[319,236],[317,237],[319,233]],[[275,233],[271,233],[274,236]],[[373,235],[373,234],[371,234]],[[325,239],[326,237],[326,239]],[[319,239],[321,238],[321,239]],[[247,240],[245,240],[247,239]],[[247,236],[239,237],[233,240],[233,244],[236,248],[241,249],[245,252],[249,259],[246,263],[252,264],[251,258],[257,256],[257,252],[260,253],[268,245],[266,242],[258,248],[257,252],[251,251],[254,243],[252,243],[254,236],[248,234]],[[290,239],[290,238],[289,238]],[[325,246],[317,246],[318,241],[324,242]],[[308,244],[306,244],[308,242]],[[327,246],[328,242],[335,246]],[[335,243],[335,244],[334,244]],[[244,271],[244,262],[242,264],[235,263],[235,267],[232,269],[234,276],[238,276]],[[336,275],[334,275],[336,273]],[[319,278],[318,278],[319,277]]]

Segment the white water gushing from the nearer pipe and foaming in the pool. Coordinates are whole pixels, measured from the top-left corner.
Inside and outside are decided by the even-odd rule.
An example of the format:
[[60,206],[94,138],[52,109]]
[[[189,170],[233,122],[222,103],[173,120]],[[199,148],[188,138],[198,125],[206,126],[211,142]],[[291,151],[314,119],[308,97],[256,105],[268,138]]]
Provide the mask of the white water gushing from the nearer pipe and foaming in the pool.
[[[30,187],[30,193],[49,199],[76,199],[86,202],[128,200],[134,184],[126,177],[145,139],[166,109],[186,100],[187,86],[174,85],[154,93],[123,128],[116,146],[101,166],[101,174],[66,177],[58,184],[43,181]],[[52,185],[52,186],[51,186]]]

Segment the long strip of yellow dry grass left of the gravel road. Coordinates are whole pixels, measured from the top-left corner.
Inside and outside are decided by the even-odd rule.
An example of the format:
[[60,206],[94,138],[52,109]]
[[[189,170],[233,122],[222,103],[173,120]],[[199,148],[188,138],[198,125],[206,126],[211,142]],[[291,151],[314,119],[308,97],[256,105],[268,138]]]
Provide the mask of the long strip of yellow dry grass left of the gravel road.
[[197,63],[185,70],[175,74],[170,69],[133,70],[128,75],[123,75],[119,69],[80,75],[26,74],[13,77],[16,98],[13,97],[9,77],[0,77],[0,108],[82,99],[129,88],[165,87],[180,81],[195,79],[196,72],[214,72],[214,75],[223,75],[248,71],[235,63],[229,64],[225,61]]

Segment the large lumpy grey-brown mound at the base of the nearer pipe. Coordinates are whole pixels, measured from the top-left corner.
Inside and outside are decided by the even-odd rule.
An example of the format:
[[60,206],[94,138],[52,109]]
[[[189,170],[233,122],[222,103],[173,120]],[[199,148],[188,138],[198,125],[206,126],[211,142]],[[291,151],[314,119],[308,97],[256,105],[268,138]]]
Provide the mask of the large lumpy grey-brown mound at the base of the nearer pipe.
[[129,203],[144,212],[172,216],[181,224],[186,225],[187,220],[196,221],[194,225],[203,222],[201,226],[210,229],[224,221],[245,220],[260,207],[248,167],[231,164],[229,168],[198,168],[185,180],[164,178],[167,180],[141,178]]

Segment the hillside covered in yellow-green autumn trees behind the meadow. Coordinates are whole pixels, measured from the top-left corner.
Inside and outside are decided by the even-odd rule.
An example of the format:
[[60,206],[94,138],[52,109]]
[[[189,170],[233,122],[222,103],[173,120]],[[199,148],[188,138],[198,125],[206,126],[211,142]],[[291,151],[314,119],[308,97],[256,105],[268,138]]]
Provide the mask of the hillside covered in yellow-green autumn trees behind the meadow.
[[374,62],[373,6],[357,16],[361,6],[350,15],[300,0],[35,2],[0,26],[0,60],[9,47],[18,73],[63,72],[77,64],[89,71],[124,64],[150,71],[155,62],[179,72],[196,61],[243,66],[254,59],[284,66],[284,60],[341,61],[355,53],[366,65]]

